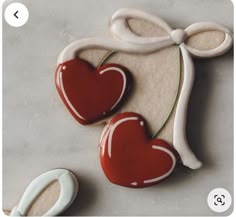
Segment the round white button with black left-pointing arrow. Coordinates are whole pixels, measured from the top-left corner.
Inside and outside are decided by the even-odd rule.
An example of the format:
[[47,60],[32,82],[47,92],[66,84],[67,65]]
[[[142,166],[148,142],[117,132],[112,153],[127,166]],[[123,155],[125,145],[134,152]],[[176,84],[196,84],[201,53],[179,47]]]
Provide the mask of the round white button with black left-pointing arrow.
[[27,22],[29,11],[25,5],[15,2],[7,6],[4,17],[9,25],[20,27]]

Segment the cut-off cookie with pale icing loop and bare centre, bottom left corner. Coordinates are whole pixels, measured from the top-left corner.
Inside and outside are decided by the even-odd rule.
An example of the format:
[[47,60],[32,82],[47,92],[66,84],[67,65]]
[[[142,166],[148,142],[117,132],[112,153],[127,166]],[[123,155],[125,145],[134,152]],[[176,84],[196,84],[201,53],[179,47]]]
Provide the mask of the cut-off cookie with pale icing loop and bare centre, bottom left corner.
[[57,216],[74,201],[79,189],[75,175],[55,169],[34,179],[10,216]]

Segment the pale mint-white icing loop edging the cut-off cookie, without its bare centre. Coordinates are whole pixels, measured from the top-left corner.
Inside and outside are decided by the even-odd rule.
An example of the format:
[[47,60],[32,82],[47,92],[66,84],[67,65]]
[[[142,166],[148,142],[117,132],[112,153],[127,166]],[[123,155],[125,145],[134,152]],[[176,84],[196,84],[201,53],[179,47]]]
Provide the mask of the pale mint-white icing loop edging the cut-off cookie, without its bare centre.
[[60,195],[56,203],[43,216],[56,216],[65,211],[76,198],[79,185],[72,172],[66,169],[55,169],[43,173],[30,183],[10,216],[25,216],[34,200],[53,181],[60,183]]

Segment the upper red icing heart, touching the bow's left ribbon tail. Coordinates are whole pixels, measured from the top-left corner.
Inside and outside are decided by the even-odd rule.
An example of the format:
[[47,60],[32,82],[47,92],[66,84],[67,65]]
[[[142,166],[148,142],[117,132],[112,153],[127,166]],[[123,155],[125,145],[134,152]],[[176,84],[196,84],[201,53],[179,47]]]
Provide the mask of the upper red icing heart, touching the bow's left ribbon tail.
[[86,125],[117,110],[129,90],[131,75],[118,64],[104,64],[96,69],[75,58],[57,67],[55,81],[70,113]]

